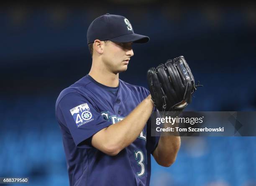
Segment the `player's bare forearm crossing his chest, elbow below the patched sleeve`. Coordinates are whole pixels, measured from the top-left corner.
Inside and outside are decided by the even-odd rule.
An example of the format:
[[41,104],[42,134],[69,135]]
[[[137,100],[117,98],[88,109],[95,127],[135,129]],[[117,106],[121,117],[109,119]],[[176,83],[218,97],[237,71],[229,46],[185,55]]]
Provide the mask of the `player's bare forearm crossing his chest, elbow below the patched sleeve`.
[[[99,138],[94,136],[92,145],[96,145],[96,148],[105,151],[109,155],[116,155],[140,135],[151,116],[152,110],[153,103],[151,96],[148,96],[122,121],[100,131]],[[100,140],[102,143],[98,145],[99,143],[96,140]]]

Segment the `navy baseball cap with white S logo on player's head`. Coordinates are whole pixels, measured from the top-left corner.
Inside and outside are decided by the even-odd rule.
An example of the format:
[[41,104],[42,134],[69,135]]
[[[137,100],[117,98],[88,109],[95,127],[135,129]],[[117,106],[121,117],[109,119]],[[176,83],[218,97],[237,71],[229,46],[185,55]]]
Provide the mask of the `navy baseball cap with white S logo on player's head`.
[[105,14],[96,18],[87,30],[87,43],[94,40],[110,40],[118,43],[146,43],[149,37],[134,33],[131,23],[121,15]]

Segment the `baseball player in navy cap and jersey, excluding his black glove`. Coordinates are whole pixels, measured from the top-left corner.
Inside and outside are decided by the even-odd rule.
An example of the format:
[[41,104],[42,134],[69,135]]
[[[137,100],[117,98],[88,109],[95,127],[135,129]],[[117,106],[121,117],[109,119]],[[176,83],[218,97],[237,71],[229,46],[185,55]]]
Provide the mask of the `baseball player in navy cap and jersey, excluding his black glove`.
[[70,186],[148,186],[151,154],[161,166],[175,161],[180,138],[151,136],[149,91],[119,79],[132,44],[148,40],[120,15],[105,14],[90,24],[91,70],[61,91],[55,107]]

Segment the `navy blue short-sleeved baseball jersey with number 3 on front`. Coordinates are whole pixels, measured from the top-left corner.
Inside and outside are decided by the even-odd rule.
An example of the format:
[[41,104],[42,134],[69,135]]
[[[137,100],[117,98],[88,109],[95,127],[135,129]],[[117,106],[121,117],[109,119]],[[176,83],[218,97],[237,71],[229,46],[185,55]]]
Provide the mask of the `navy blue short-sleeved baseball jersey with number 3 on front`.
[[95,133],[128,116],[148,94],[146,88],[122,80],[118,88],[110,88],[90,75],[61,91],[55,109],[71,186],[149,185],[151,153],[159,141],[159,137],[150,135],[150,121],[116,156],[91,145]]

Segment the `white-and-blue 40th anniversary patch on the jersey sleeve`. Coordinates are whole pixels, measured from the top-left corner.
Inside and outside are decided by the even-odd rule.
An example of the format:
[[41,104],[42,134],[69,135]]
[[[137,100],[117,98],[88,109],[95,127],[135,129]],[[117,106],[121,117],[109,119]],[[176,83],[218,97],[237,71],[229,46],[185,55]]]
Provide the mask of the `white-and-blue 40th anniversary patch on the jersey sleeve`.
[[83,126],[85,123],[89,123],[90,121],[94,120],[87,103],[83,103],[70,109],[70,113],[77,124],[77,128]]

